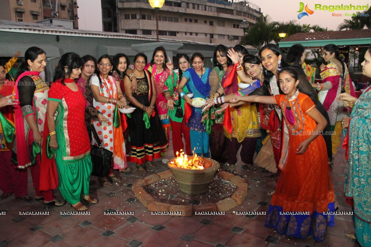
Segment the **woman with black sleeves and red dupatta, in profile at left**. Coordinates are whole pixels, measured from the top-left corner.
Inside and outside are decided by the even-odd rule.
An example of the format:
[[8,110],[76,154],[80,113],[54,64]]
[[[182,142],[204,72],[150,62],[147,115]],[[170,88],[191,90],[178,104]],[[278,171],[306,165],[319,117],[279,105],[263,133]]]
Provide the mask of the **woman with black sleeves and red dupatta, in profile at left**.
[[40,78],[40,72],[46,67],[46,53],[33,46],[24,53],[24,62],[17,73],[14,88],[19,105],[15,106],[16,153],[12,154],[14,166],[19,171],[19,184],[22,188],[15,191],[16,198],[30,201],[27,194],[27,167],[31,167],[36,200],[44,200],[45,205],[63,206],[66,202],[55,198],[53,190],[58,187],[58,177],[40,176],[43,131],[46,119],[46,107],[49,86]]

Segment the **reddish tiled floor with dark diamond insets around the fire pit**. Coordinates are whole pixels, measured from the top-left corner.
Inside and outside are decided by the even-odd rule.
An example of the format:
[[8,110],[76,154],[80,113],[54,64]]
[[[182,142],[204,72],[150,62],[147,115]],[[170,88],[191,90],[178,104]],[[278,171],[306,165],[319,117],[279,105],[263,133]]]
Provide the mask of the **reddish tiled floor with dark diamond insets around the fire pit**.
[[[171,146],[171,145],[170,145]],[[168,158],[173,154],[169,148]],[[339,147],[332,180],[339,211],[351,211],[345,203],[344,173],[346,163],[344,150]],[[239,164],[239,163],[237,163]],[[91,215],[63,216],[60,211],[73,211],[69,204],[63,207],[49,207],[48,210],[39,201],[30,203],[15,200],[14,197],[0,201],[0,247],[34,246],[129,246],[129,247],[264,247],[264,246],[334,246],[357,247],[356,241],[345,236],[345,231],[354,230],[350,216],[335,216],[335,227],[329,227],[326,239],[315,242],[312,237],[298,240],[280,236],[272,228],[265,228],[265,216],[240,216],[233,211],[267,211],[270,198],[267,191],[276,175],[259,168],[256,171],[241,170],[237,165],[236,173],[249,183],[249,192],[243,204],[226,212],[225,216],[174,217],[153,216],[134,196],[131,185],[148,174],[167,169],[167,165],[157,162],[158,167],[148,169],[146,175],[139,174],[134,168],[131,174],[121,173],[122,181],[111,187],[102,187],[96,177],[91,178],[91,196],[99,203],[91,205]],[[29,176],[30,177],[30,176]],[[35,196],[32,182],[29,181],[29,193]],[[61,198],[59,191],[56,196]],[[181,194],[167,190],[165,197],[174,201],[184,200]],[[226,192],[227,193],[227,192]],[[179,196],[179,197],[178,197]],[[170,200],[170,199],[169,199]],[[186,202],[204,200],[188,196]],[[193,201],[192,203],[197,203]],[[104,215],[105,210],[134,211],[134,215]],[[19,211],[49,211],[49,216],[20,215]]]

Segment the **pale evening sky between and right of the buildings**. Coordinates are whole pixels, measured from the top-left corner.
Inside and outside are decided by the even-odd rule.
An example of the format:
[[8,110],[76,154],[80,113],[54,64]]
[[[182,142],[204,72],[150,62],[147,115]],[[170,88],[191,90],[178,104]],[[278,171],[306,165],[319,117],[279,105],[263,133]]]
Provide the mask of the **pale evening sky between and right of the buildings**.
[[[321,27],[327,27],[329,30],[336,30],[338,25],[343,22],[344,19],[350,19],[351,17],[345,17],[344,14],[355,13],[356,10],[339,10],[339,11],[327,11],[327,10],[315,10],[315,4],[332,6],[332,5],[367,5],[370,4],[369,0],[250,0],[254,4],[261,8],[264,15],[268,14],[273,21],[289,21],[296,20],[300,24],[317,24]],[[297,12],[300,10],[300,3],[304,6],[308,4],[309,10],[314,11],[308,16],[303,16],[300,20],[298,14],[305,12]],[[77,0],[78,3],[78,16],[79,16],[79,29],[102,31],[102,12],[101,12],[101,0]],[[310,11],[309,11],[310,12]],[[342,14],[342,16],[332,16],[332,14]],[[370,18],[370,17],[364,17]]]

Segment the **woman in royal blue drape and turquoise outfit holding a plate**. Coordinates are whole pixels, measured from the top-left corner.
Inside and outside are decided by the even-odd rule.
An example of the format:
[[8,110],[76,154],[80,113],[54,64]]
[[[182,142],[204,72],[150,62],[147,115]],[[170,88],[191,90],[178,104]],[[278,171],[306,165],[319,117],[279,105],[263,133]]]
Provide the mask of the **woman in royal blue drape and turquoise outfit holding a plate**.
[[[192,106],[190,97],[183,92],[183,87],[186,86],[189,93],[194,93],[194,98],[206,99],[210,93],[209,75],[211,70],[203,67],[204,56],[199,52],[192,55],[191,61],[193,68],[187,69],[183,73],[177,91],[180,97],[188,103],[185,104],[184,117],[187,126],[190,127],[191,148],[198,156],[210,157],[210,132],[206,131],[207,124],[202,123],[204,119],[208,118],[208,114],[203,117],[201,108]],[[211,128],[209,130],[211,131]]]

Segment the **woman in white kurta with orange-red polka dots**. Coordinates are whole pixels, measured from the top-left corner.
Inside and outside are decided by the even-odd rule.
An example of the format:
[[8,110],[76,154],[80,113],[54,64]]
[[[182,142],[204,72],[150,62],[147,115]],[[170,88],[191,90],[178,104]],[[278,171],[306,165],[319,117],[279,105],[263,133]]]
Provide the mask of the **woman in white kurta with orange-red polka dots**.
[[[108,55],[103,55],[98,59],[95,74],[90,79],[90,84],[93,91],[93,106],[101,111],[101,113],[109,119],[108,123],[100,123],[93,120],[93,125],[98,133],[101,143],[104,148],[111,150],[114,155],[113,168],[119,171],[129,172],[131,169],[127,165],[126,150],[122,128],[115,128],[113,125],[115,104],[119,108],[127,108],[126,100],[121,92],[119,82],[114,77],[108,74],[112,71],[112,59]],[[95,141],[95,140],[93,140]],[[121,180],[116,177],[113,171],[108,175],[114,181]],[[111,184],[105,178],[99,178],[99,181],[104,186]]]

